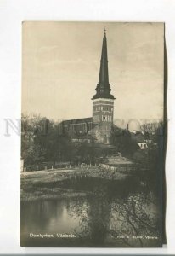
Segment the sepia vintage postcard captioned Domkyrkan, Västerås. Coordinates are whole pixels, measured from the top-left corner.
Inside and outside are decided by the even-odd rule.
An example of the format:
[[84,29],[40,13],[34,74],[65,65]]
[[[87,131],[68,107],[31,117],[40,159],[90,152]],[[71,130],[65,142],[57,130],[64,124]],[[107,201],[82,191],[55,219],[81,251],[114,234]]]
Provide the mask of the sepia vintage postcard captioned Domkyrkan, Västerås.
[[21,247],[162,247],[164,24],[22,25]]

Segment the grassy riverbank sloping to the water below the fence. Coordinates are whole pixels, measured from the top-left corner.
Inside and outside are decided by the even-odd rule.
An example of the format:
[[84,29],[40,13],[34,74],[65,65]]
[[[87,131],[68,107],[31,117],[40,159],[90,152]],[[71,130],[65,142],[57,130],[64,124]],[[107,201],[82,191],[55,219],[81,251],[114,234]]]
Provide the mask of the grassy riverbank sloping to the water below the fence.
[[88,177],[120,181],[129,177],[129,173],[106,171],[99,166],[70,170],[21,172],[21,201],[93,195],[93,191],[83,191],[76,190],[75,188],[68,189],[63,187],[63,183],[66,180],[72,181]]

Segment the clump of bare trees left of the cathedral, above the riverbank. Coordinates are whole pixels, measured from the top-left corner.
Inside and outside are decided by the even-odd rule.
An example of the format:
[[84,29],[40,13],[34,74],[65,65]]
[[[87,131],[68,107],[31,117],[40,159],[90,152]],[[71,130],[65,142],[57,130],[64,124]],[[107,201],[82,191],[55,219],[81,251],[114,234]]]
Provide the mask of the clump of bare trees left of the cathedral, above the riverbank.
[[52,120],[40,116],[22,115],[21,156],[25,166],[43,161],[72,160],[71,140],[59,135],[59,127]]

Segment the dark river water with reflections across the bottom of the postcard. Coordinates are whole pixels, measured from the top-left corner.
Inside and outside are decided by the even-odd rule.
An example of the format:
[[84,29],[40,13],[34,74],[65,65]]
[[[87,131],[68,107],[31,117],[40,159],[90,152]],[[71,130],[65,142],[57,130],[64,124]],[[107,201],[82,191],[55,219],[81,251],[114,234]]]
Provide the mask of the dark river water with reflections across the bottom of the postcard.
[[[85,186],[83,183],[88,183]],[[125,183],[126,184],[126,183]],[[155,193],[139,186],[99,180],[79,180],[62,184],[93,196],[21,203],[21,238],[29,234],[74,234],[72,247],[159,247],[161,225]],[[132,188],[132,189],[131,189]],[[150,236],[154,238],[145,238]],[[67,239],[67,238],[66,238]],[[69,247],[60,240],[54,246]],[[72,241],[72,238],[71,238]],[[38,242],[38,240],[37,240]],[[51,242],[51,241],[50,241]],[[42,244],[42,246],[44,246]],[[48,244],[50,246],[50,244]]]

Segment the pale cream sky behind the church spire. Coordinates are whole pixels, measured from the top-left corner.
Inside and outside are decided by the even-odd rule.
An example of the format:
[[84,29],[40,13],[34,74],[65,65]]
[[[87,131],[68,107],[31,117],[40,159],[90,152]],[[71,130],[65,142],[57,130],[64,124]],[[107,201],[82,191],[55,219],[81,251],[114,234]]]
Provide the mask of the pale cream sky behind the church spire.
[[23,113],[92,116],[104,27],[114,119],[162,119],[163,23],[23,22]]

